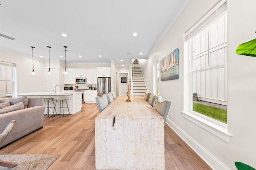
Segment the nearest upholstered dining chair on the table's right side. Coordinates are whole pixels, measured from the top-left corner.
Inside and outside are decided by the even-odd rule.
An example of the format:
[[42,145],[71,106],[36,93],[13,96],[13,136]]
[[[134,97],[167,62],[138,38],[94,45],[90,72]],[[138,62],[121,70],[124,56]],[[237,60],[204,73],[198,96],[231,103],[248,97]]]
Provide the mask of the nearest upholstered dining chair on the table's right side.
[[156,99],[155,109],[160,115],[164,117],[164,123],[172,106],[172,100],[162,100],[161,96],[158,96]]

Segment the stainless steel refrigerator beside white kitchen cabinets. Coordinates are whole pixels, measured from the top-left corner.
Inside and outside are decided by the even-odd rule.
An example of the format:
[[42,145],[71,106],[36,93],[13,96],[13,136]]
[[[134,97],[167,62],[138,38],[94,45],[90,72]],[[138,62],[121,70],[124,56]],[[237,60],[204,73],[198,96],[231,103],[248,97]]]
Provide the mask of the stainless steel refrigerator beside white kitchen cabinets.
[[102,97],[103,94],[111,91],[111,78],[110,77],[98,77],[97,80],[98,96]]

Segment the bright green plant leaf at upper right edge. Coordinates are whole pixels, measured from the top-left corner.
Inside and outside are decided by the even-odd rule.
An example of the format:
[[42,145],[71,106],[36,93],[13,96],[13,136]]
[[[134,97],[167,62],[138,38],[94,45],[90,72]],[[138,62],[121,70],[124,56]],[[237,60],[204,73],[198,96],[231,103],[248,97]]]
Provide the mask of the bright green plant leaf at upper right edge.
[[256,39],[239,45],[236,49],[236,54],[256,57]]

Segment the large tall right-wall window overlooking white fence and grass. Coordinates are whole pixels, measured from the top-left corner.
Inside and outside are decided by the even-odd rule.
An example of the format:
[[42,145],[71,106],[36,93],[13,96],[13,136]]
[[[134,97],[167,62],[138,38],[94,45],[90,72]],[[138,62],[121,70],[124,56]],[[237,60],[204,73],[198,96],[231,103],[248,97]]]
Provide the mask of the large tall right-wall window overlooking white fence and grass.
[[193,112],[227,123],[226,3],[196,23],[189,43],[190,104]]

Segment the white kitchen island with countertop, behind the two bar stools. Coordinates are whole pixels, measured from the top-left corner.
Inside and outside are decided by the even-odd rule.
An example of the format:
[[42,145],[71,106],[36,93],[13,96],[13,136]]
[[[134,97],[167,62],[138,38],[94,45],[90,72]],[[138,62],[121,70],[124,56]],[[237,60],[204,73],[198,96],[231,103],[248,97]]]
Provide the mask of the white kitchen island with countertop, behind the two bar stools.
[[[68,108],[64,108],[64,114],[68,114],[68,109],[70,114],[74,114],[81,110],[82,107],[82,95],[81,92],[60,92],[60,93],[53,93],[53,92],[34,92],[34,93],[20,93],[17,96],[28,96],[28,97],[43,97],[43,98],[68,98]],[[54,100],[55,104],[56,100]],[[50,105],[50,115],[53,113],[53,103],[52,100],[49,102]],[[46,106],[46,102],[44,102],[44,106]],[[66,106],[66,102],[64,101],[64,106]],[[60,113],[60,103],[57,101],[56,103],[56,111],[57,114]],[[45,111],[45,113],[47,113]],[[55,111],[54,111],[55,113]],[[62,113],[62,112],[61,112]]]

